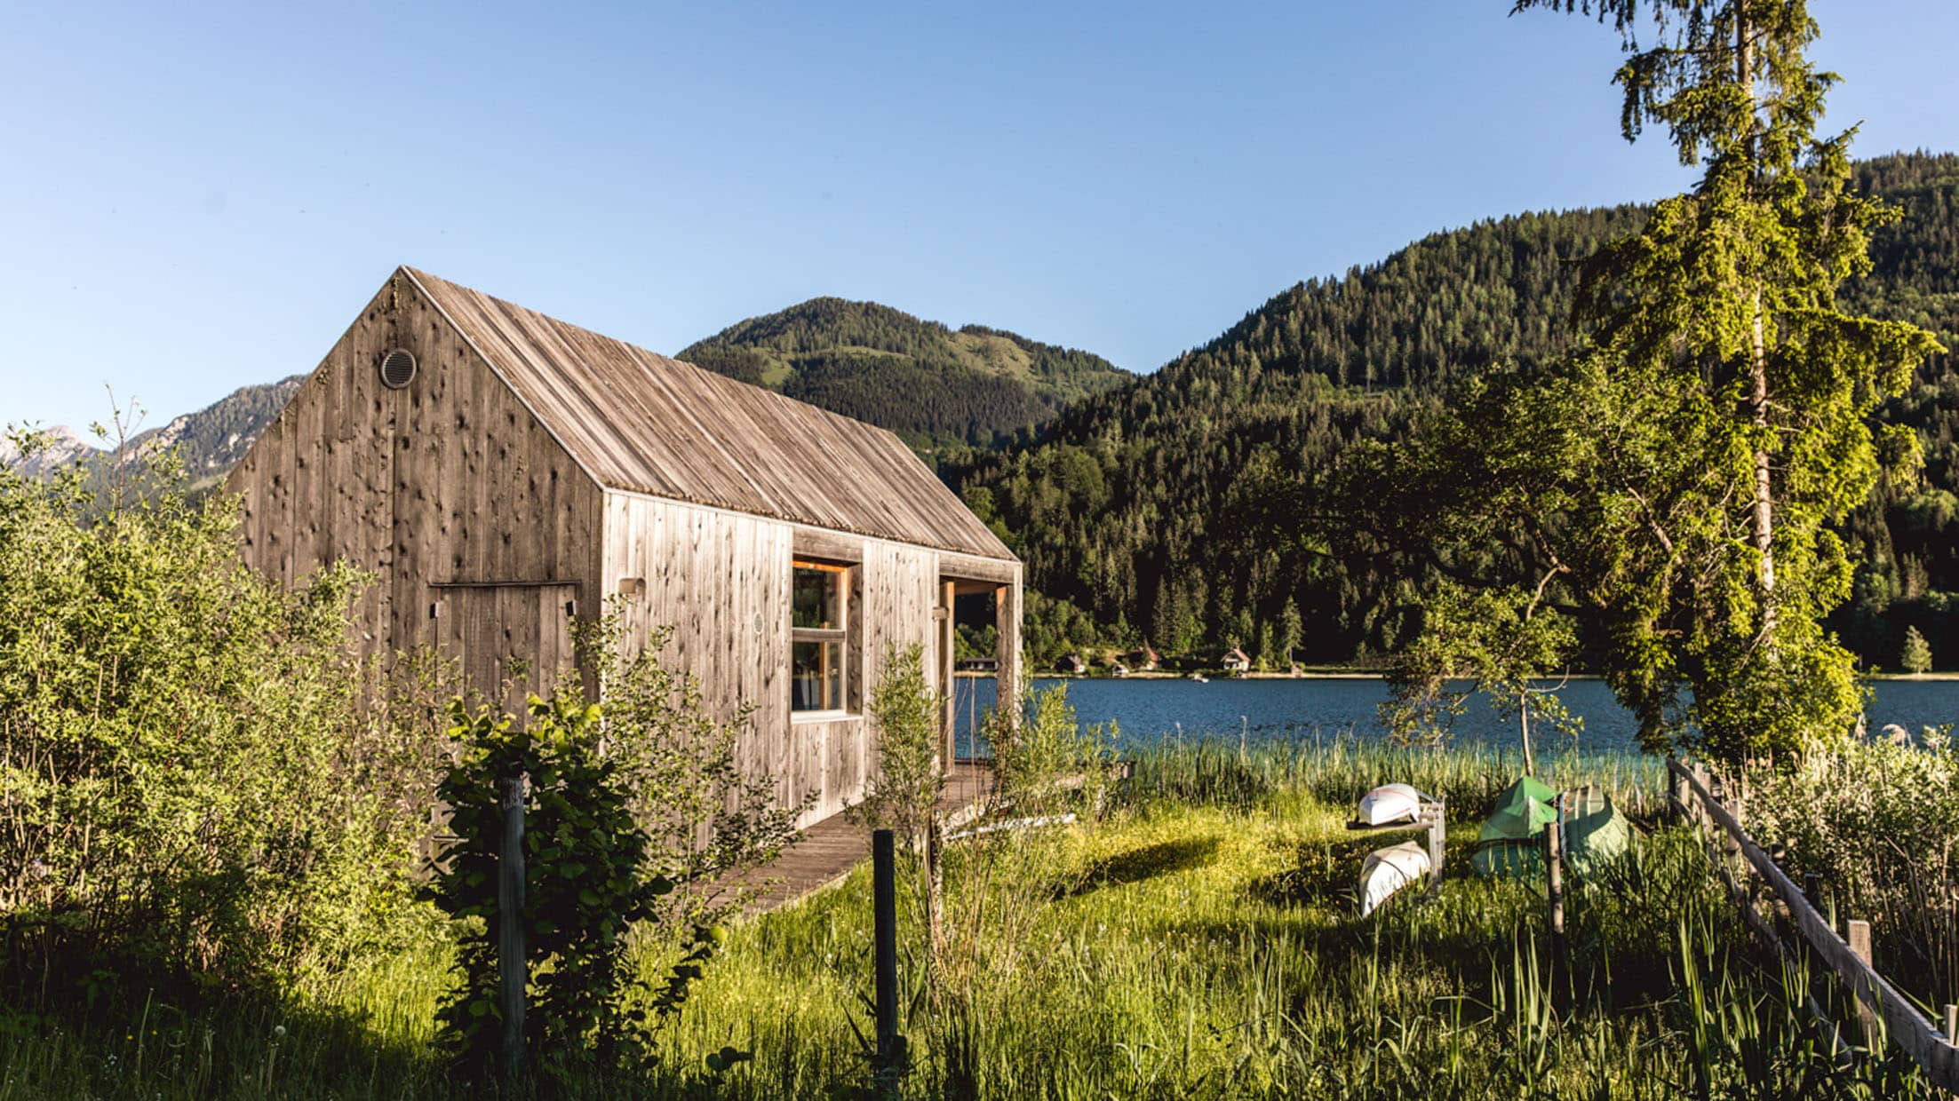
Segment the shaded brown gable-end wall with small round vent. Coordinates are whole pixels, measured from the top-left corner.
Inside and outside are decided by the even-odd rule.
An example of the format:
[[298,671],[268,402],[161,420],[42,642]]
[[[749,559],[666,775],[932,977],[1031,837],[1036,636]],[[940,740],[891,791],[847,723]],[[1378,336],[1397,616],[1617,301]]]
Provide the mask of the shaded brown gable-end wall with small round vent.
[[[402,390],[380,382],[390,349],[417,360]],[[357,609],[362,652],[433,643],[484,692],[519,656],[531,666],[521,688],[547,688],[570,656],[566,605],[596,607],[597,484],[400,274],[229,488],[245,498],[241,543],[259,570],[294,584],[345,560],[374,576]],[[456,582],[523,588],[443,588]]]

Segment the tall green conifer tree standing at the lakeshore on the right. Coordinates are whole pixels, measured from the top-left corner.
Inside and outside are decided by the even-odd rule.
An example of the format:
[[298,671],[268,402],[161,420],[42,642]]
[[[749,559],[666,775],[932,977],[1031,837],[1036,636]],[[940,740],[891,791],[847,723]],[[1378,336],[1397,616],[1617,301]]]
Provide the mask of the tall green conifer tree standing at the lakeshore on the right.
[[[1869,417],[1941,349],[1838,308],[1894,212],[1845,186],[1849,133],[1814,135],[1836,76],[1804,57],[1804,0],[1599,0],[1597,14],[1628,53],[1624,135],[1659,121],[1706,170],[1601,249],[1579,288],[1591,335],[1557,392],[1597,437],[1577,468],[1593,523],[1559,562],[1608,609],[1608,676],[1649,744],[1794,748],[1845,731],[1861,703],[1822,625],[1851,582],[1826,521],[1869,496],[1881,453],[1916,456],[1916,437],[1877,439]],[[1657,41],[1644,49],[1642,16]],[[1552,451],[1569,472],[1569,441]]]

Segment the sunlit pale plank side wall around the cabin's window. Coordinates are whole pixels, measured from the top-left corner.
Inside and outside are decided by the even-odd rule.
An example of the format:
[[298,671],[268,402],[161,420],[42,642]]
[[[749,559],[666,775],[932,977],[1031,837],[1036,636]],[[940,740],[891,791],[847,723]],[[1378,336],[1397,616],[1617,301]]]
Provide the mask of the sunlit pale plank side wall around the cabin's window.
[[[789,711],[789,582],[803,556],[852,562],[854,715]],[[664,656],[693,674],[721,721],[750,705],[742,768],[776,778],[784,803],[809,797],[805,821],[864,795],[874,766],[862,699],[884,672],[885,645],[917,643],[934,668],[938,554],[756,515],[637,494],[605,498],[607,594],[623,598],[629,645],[670,627]]]

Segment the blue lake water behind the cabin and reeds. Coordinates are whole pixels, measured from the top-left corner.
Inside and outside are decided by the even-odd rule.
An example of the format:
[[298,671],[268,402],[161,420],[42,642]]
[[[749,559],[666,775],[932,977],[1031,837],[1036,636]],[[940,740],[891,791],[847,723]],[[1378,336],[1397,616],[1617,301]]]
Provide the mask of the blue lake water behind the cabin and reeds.
[[[1123,741],[1130,744],[1148,744],[1179,733],[1185,739],[1238,737],[1240,729],[1252,741],[1385,735],[1375,707],[1387,699],[1387,688],[1371,678],[1211,680],[1209,684],[1170,678],[1038,678],[1034,690],[1044,692],[1056,684],[1068,686],[1068,701],[1081,723],[1113,721],[1121,727]],[[956,692],[960,752],[966,754],[972,717],[983,715],[993,705],[993,680],[960,678]],[[1602,680],[1573,680],[1559,695],[1585,721],[1575,748],[1638,748],[1638,723],[1612,699],[1612,690]],[[1959,723],[1959,682],[1873,682],[1867,717],[1871,731],[1896,723],[1914,735],[1920,727]],[[1456,719],[1456,741],[1516,744],[1516,721],[1501,723],[1489,699],[1479,697]]]

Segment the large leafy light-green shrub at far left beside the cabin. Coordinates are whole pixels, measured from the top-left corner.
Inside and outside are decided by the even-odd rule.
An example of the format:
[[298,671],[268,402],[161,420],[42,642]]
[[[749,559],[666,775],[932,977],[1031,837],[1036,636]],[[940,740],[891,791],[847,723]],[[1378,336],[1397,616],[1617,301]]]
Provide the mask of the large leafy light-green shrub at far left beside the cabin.
[[417,927],[441,741],[370,701],[372,670],[349,658],[360,578],[327,568],[286,592],[245,566],[233,527],[235,502],[192,502],[165,458],[118,464],[106,492],[82,468],[0,468],[16,989],[59,1001],[121,968],[280,983]]

